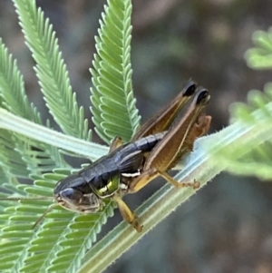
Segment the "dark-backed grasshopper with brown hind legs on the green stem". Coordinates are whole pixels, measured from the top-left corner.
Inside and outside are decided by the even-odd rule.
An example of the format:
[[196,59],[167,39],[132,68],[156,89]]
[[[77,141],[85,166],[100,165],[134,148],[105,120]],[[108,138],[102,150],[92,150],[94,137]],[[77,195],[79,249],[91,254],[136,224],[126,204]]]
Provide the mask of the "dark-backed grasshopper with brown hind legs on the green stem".
[[[188,110],[171,126],[192,96]],[[201,87],[197,90],[196,83],[189,81],[176,98],[141,126],[130,142],[122,144],[116,137],[107,155],[60,180],[53,190],[54,200],[67,210],[83,213],[101,210],[104,199],[113,200],[122,217],[140,232],[139,219],[122,196],[141,190],[158,176],[177,188],[199,187],[197,181],[178,182],[167,171],[192,151],[197,138],[208,132],[211,117],[201,114],[208,102],[209,92]]]

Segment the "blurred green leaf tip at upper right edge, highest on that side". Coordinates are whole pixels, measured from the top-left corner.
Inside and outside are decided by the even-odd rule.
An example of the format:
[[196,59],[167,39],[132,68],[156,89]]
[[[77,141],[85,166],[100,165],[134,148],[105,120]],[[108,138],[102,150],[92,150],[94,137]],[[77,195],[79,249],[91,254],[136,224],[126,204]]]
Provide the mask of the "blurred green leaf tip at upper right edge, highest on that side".
[[255,47],[245,54],[248,66],[253,69],[272,68],[272,27],[267,32],[256,31],[252,36]]

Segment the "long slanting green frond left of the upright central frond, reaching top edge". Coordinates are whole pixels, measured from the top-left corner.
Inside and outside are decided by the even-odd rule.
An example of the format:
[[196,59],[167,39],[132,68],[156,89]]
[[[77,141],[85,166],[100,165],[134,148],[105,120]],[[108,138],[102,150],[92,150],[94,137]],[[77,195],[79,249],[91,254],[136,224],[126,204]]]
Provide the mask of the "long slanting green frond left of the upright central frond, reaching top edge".
[[54,120],[63,132],[90,140],[88,122],[83,117],[68,77],[66,65],[59,51],[53,25],[44,19],[44,12],[31,0],[13,0],[23,28],[27,46],[37,65],[35,72],[44,93],[44,99]]

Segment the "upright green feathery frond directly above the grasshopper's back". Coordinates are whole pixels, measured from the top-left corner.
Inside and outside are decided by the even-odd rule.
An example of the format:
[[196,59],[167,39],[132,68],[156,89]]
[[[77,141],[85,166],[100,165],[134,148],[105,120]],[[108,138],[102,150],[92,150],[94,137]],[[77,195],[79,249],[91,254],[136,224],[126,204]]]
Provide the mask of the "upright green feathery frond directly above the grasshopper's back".
[[131,1],[108,1],[100,24],[91,69],[92,121],[107,143],[116,136],[130,141],[140,121],[131,83]]

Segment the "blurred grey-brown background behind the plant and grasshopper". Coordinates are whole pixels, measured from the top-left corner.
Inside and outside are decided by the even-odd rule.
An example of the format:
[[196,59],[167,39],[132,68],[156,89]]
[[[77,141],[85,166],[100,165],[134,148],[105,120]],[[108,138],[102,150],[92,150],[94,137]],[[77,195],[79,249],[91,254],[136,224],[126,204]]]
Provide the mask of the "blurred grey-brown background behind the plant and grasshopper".
[[[255,30],[272,25],[270,0],[134,0],[133,88],[142,121],[170,101],[192,77],[211,93],[210,132],[228,125],[231,102],[263,89],[271,72],[250,70],[244,60]],[[90,120],[89,88],[94,35],[104,0],[38,0],[53,23],[78,102]],[[24,45],[15,9],[0,0],[0,36],[18,60],[30,100],[47,111]],[[94,136],[94,141],[100,141]],[[76,166],[78,167],[78,166]],[[163,181],[128,196],[135,209]],[[102,230],[112,229],[121,217]],[[222,173],[151,230],[107,272],[272,272],[272,187],[255,178]]]

